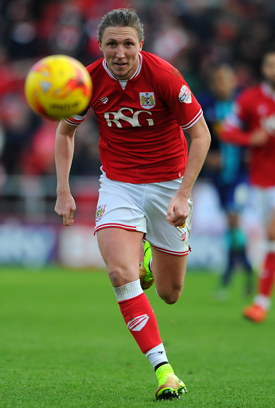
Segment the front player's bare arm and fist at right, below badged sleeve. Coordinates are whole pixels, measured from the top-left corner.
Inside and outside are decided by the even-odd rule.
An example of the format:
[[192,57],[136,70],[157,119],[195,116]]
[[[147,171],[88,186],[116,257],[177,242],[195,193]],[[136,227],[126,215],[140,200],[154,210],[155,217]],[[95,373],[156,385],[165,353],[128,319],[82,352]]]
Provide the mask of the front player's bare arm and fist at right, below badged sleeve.
[[168,222],[176,227],[183,225],[189,215],[188,198],[204,163],[211,140],[204,117],[189,128],[188,133],[191,137],[191,145],[184,177],[180,188],[169,203],[167,212]]

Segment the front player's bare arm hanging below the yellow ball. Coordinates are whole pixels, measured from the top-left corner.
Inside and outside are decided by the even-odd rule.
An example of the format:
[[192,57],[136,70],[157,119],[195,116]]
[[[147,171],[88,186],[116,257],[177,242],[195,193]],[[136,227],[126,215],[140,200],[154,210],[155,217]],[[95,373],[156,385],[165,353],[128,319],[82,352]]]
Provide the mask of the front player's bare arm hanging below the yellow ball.
[[61,121],[56,130],[55,165],[57,174],[57,200],[55,212],[63,217],[63,224],[73,224],[76,210],[75,201],[69,186],[69,174],[74,153],[74,134],[76,127]]

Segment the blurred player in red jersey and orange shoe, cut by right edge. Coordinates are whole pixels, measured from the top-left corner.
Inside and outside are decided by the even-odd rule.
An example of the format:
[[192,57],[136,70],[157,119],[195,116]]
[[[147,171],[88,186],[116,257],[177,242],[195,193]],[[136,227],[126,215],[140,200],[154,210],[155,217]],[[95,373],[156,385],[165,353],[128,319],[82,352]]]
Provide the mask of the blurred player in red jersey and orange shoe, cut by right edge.
[[250,148],[250,181],[265,225],[266,255],[258,293],[243,311],[256,323],[267,316],[275,278],[275,48],[264,53],[261,67],[263,82],[239,95],[222,133],[224,141]]

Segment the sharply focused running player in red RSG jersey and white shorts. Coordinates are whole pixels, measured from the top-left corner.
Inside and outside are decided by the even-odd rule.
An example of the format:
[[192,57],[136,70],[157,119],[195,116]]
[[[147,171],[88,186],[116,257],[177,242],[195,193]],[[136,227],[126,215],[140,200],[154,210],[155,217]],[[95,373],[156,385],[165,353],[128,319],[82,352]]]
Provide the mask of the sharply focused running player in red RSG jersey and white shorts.
[[[170,399],[186,387],[168,363],[155,314],[141,287],[140,248],[146,235],[142,285],[148,287],[154,279],[158,295],[175,303],[189,251],[191,190],[210,134],[182,75],[143,52],[143,38],[134,10],[110,11],[98,27],[104,57],[87,67],[102,161],[95,232],[127,328],[155,369],[156,398]],[[55,211],[67,226],[73,224],[76,209],[68,182],[74,135],[84,118],[85,114],[61,121],[56,133]],[[183,129],[192,141],[189,157]]]

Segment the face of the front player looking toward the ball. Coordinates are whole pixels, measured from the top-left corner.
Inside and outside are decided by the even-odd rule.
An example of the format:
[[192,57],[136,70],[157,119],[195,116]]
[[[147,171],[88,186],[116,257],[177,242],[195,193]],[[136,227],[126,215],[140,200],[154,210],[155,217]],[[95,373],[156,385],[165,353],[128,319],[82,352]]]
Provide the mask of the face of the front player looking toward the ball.
[[134,27],[106,27],[99,48],[107,61],[109,70],[117,79],[129,79],[138,67],[139,42]]

